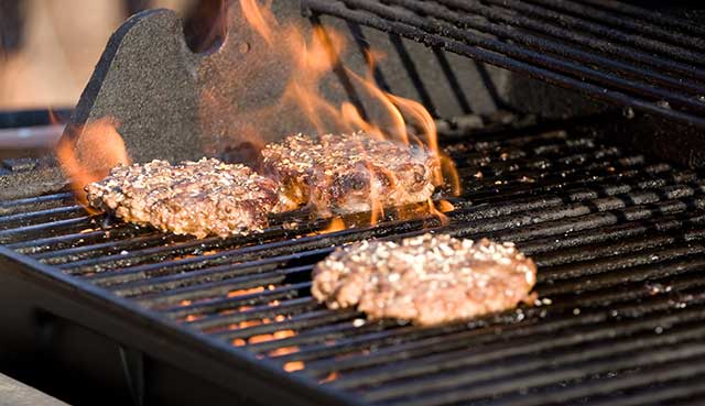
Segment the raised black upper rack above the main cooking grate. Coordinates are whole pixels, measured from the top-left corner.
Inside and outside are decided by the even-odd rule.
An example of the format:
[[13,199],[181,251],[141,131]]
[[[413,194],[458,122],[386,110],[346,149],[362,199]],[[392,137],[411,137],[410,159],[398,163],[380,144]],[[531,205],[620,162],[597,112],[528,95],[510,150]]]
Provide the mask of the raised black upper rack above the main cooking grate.
[[628,116],[636,110],[705,127],[705,30],[687,21],[603,0],[304,3],[614,102]]

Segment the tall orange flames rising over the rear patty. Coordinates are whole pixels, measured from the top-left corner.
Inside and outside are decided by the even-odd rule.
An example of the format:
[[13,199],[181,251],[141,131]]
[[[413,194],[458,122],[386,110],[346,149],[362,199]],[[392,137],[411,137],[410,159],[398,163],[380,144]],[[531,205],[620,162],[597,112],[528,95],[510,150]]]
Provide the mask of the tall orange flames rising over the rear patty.
[[[372,72],[376,61],[382,57],[379,53],[370,51],[366,54],[368,72],[360,76],[341,64],[340,55],[346,48],[343,35],[334,30],[314,26],[311,37],[306,39],[305,31],[294,22],[278,21],[270,6],[271,1],[240,0],[242,14],[253,32],[264,40],[272,55],[289,61],[292,67],[280,103],[291,103],[296,111],[303,112],[319,134],[359,130],[377,139],[424,145],[438,158],[438,169],[433,174],[434,184],[442,185],[447,179],[448,189],[454,195],[459,194],[460,185],[455,165],[438,147],[436,124],[429,110],[417,101],[391,95],[377,86]],[[373,119],[366,118],[350,102],[335,106],[323,98],[321,83],[334,69],[345,72],[361,89],[365,100],[377,107]],[[373,176],[370,176],[371,223],[384,216],[375,184]],[[327,212],[328,208],[317,209]],[[446,218],[442,211],[444,210],[437,209],[429,200],[426,212],[443,220]],[[339,227],[345,224],[333,220],[322,232],[337,231]]]

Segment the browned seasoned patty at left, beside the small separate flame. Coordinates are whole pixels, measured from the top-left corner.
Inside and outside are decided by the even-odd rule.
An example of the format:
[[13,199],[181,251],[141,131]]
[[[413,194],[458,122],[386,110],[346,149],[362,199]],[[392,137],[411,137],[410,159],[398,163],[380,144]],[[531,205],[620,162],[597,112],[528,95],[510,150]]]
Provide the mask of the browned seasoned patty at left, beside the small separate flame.
[[276,187],[247,166],[203,158],[118,166],[86,191],[90,206],[126,221],[203,238],[265,228]]

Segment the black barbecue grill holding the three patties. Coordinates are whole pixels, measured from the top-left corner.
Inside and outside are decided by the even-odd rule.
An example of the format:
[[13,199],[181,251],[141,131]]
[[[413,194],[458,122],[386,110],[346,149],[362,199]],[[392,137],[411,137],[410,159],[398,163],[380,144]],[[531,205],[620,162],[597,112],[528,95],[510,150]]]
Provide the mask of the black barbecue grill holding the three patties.
[[[403,75],[390,74],[390,61],[376,78],[437,117],[463,186],[440,196],[454,206],[449,221],[399,209],[324,232],[328,221],[302,210],[275,216],[263,233],[196,240],[87,212],[51,160],[9,161],[0,365],[19,374],[41,365],[44,385],[94,403],[110,393],[134,405],[702,404],[698,10],[611,0],[295,6],[312,24],[344,26],[360,50],[399,56]],[[134,72],[121,58],[150,46],[129,30],[163,15],[139,18],[111,40],[73,124],[116,106],[138,114],[111,98]],[[478,62],[473,69],[464,56]],[[149,146],[131,132],[159,131],[163,116],[128,125],[128,146]],[[420,328],[311,297],[312,267],[334,246],[427,231],[516,242],[539,267],[535,304]]]

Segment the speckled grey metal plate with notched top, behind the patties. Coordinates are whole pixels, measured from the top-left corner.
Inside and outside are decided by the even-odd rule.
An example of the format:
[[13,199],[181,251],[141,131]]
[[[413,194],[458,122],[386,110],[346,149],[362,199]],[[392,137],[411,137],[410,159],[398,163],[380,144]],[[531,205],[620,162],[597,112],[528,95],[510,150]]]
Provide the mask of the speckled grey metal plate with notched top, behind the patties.
[[[108,42],[63,136],[80,142],[85,124],[110,118],[132,161],[147,162],[217,156],[251,142],[254,133],[270,142],[292,129],[315,130],[300,107],[278,103],[292,64],[249,26],[239,4],[228,2],[227,33],[218,48],[205,53],[188,48],[173,11],[150,10],[128,20]],[[273,8],[282,19],[301,21],[297,1]],[[335,80],[321,92],[347,98]]]

